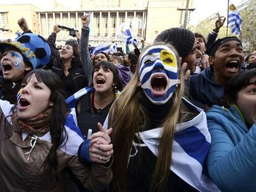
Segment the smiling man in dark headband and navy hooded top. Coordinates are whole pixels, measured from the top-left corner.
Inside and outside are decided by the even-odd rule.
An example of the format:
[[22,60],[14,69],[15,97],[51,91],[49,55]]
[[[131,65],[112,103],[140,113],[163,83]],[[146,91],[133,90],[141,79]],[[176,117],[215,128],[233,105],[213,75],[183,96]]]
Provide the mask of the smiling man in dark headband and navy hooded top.
[[235,36],[215,41],[209,49],[210,67],[190,77],[190,99],[204,110],[218,104],[223,96],[224,83],[236,76],[244,63],[241,41]]

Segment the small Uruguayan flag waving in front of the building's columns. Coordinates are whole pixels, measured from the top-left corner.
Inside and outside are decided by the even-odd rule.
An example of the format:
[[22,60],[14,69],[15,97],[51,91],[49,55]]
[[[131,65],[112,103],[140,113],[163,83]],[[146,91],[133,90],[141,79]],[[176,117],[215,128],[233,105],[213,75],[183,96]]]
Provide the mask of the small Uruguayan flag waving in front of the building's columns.
[[119,33],[117,33],[117,38],[121,38],[126,44],[138,45],[138,41],[133,37],[132,30],[126,23],[120,25]]

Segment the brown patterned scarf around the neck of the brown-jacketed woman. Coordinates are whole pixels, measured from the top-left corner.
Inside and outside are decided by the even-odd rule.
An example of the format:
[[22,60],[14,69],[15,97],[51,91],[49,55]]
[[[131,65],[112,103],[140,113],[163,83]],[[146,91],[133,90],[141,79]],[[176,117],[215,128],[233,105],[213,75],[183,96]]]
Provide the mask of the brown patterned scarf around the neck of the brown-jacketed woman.
[[44,135],[49,131],[51,122],[52,109],[49,108],[44,112],[28,120],[19,119],[17,112],[12,115],[12,125],[18,131],[24,131],[30,135]]

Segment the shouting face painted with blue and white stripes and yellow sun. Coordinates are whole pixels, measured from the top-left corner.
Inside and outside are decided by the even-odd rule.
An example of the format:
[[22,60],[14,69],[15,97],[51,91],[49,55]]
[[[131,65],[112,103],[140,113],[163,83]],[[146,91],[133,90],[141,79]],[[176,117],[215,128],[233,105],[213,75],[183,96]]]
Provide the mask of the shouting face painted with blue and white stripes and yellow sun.
[[164,45],[151,46],[140,60],[140,83],[153,104],[166,103],[177,87],[178,62],[174,52]]

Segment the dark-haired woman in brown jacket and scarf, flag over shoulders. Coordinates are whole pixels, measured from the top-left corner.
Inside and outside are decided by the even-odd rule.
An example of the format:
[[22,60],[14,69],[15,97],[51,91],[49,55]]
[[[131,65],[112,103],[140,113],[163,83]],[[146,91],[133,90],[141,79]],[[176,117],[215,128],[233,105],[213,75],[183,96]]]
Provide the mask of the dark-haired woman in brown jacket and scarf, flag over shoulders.
[[1,191],[63,191],[67,167],[90,191],[110,182],[109,168],[80,164],[84,140],[63,93],[59,77],[41,69],[23,79],[17,104],[0,100]]

